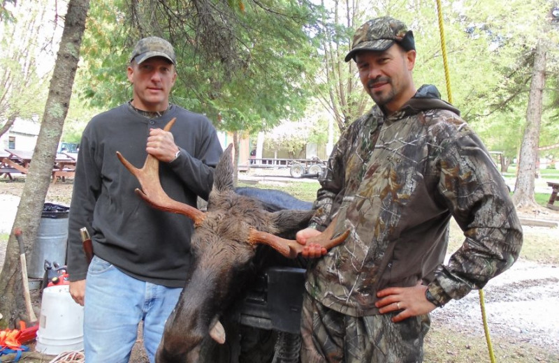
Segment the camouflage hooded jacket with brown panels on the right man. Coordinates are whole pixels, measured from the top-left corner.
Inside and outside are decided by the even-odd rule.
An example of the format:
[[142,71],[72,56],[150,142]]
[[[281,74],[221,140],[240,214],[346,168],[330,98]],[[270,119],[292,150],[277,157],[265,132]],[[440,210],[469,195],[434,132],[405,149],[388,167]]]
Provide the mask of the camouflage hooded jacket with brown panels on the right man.
[[[425,89],[389,117],[372,108],[328,159],[312,226],[337,215],[336,233],[350,235],[312,262],[306,288],[331,309],[377,314],[378,290],[420,280],[445,304],[518,257],[521,225],[500,173],[458,110]],[[465,240],[442,265],[451,216]]]

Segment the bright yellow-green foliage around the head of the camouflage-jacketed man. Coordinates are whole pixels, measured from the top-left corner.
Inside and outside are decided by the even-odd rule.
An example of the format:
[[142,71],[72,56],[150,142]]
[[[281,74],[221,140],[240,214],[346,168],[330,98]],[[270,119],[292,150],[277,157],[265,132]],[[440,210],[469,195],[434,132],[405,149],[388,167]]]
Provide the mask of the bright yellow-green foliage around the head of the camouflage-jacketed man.
[[[435,84],[442,98],[448,100],[440,29],[433,1],[386,0],[368,4],[366,9],[350,6],[349,10],[340,3],[336,4],[340,6],[338,13],[348,14],[348,17],[343,20],[336,18],[338,13],[334,13],[334,9],[330,13],[328,19],[334,24],[326,22],[329,27],[321,36],[328,41],[323,43],[322,49],[326,54],[325,60],[335,64],[328,68],[332,75],[328,82],[321,82],[321,87],[315,91],[329,95],[323,97],[324,102],[335,112],[345,114],[347,119],[344,122],[353,121],[355,115],[362,113],[356,106],[361,105],[359,100],[363,98],[363,91],[361,84],[356,83],[355,71],[351,71],[351,62],[349,66],[344,64],[343,57],[351,45],[354,29],[366,19],[379,15],[396,17],[414,31],[416,87]],[[488,149],[504,151],[509,158],[518,154],[523,135],[532,49],[544,31],[551,39],[557,40],[556,31],[547,29],[550,22],[546,15],[550,6],[544,0],[465,0],[444,4],[442,9],[453,104],[483,138]],[[346,22],[347,27],[337,25],[342,22]],[[328,49],[335,50],[333,58],[328,58]],[[556,47],[551,47],[550,54],[556,53]],[[549,58],[552,80],[558,78],[558,64],[557,57]],[[325,61],[323,68],[327,67]],[[335,73],[340,67],[347,71]],[[353,86],[349,87],[350,84]],[[553,81],[553,84],[553,98],[549,97],[548,105],[553,100],[559,100],[559,83]],[[340,89],[348,93],[343,99],[338,93]],[[343,102],[346,103],[343,105]],[[552,140],[559,136],[558,123],[551,120],[558,109],[550,105],[549,111],[544,113],[543,145],[554,143]]]

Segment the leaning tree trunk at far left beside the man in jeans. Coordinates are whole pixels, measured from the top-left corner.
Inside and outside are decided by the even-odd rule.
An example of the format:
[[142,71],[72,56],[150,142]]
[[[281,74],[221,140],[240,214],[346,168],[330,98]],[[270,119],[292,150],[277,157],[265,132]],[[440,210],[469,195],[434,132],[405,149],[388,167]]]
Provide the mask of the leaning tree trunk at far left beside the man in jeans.
[[[13,228],[19,227],[23,231],[28,260],[41,221],[41,212],[50,183],[52,165],[55,163],[62,126],[68,113],[75,71],[80,59],[80,45],[85,30],[87,10],[89,10],[89,0],[68,1],[64,31],[60,40],[55,71],[50,81],[41,131],[39,131],[33,161],[29,166],[29,174],[25,180],[20,205],[17,207]],[[24,311],[18,257],[17,242],[11,234],[6,248],[6,262],[0,273],[0,291],[2,291],[0,312],[10,318],[0,320],[0,327],[6,327],[8,323],[13,325],[19,312]]]

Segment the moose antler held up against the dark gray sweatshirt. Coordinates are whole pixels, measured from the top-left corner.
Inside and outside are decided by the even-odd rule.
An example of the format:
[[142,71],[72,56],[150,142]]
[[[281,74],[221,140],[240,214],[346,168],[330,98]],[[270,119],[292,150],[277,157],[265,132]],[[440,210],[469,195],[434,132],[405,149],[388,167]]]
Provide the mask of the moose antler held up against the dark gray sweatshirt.
[[[173,118],[166,124],[163,128],[164,131],[169,131],[175,120]],[[177,202],[169,198],[167,193],[161,187],[161,182],[159,180],[159,160],[147,154],[143,168],[138,169],[132,165],[129,161],[122,156],[122,154],[117,151],[117,156],[121,163],[124,164],[126,169],[128,169],[140,182],[142,189],[136,188],[136,194],[140,195],[147,203],[152,207],[161,209],[167,212],[173,212],[178,214],[183,214],[194,221],[194,225],[200,225],[205,218],[205,213],[200,210],[187,205],[186,203]]]

